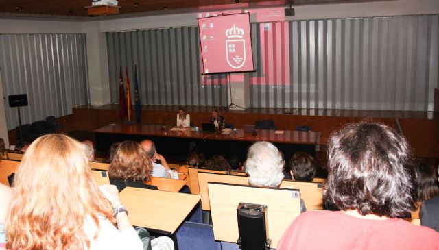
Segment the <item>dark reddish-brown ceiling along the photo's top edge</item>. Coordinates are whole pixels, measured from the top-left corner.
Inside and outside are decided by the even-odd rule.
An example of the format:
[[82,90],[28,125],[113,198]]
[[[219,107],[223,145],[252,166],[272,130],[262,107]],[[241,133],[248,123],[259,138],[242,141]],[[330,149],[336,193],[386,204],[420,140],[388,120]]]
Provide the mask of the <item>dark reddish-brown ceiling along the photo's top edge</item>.
[[[322,3],[355,3],[384,0],[119,0],[122,16],[153,14],[175,14],[203,10],[224,10],[258,6],[309,5]],[[62,16],[66,18],[86,18],[84,7],[90,6],[90,0],[0,0],[0,16]],[[19,7],[23,10],[19,11]],[[167,10],[165,10],[167,8]]]

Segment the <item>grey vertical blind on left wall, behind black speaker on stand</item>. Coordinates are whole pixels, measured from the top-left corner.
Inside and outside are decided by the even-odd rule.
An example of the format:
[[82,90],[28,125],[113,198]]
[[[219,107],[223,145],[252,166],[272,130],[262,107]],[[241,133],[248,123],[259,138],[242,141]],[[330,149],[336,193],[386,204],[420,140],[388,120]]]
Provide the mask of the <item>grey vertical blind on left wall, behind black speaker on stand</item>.
[[8,129],[19,125],[8,95],[27,94],[23,124],[88,103],[84,34],[0,34],[0,68]]

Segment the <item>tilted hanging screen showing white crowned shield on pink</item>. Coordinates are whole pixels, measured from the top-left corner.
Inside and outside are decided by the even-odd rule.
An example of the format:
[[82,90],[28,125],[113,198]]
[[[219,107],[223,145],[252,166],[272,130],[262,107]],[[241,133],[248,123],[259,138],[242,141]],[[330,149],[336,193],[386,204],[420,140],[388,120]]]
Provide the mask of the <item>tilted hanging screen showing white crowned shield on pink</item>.
[[254,71],[250,16],[198,18],[204,74]]

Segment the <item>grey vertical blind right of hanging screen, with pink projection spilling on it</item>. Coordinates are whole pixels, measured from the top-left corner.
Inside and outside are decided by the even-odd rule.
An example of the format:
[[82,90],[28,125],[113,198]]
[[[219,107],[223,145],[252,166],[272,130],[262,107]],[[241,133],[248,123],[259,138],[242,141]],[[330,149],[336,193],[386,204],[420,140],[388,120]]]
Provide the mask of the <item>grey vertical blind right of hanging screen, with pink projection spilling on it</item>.
[[250,105],[432,111],[439,16],[252,24]]

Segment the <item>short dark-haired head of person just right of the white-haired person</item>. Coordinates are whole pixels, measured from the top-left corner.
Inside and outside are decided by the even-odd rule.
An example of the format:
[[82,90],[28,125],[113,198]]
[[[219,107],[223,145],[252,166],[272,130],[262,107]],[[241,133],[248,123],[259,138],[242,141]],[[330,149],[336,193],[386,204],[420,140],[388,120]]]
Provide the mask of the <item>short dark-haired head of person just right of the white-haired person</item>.
[[289,167],[294,181],[312,182],[316,175],[316,164],[309,153],[295,153],[289,160]]

